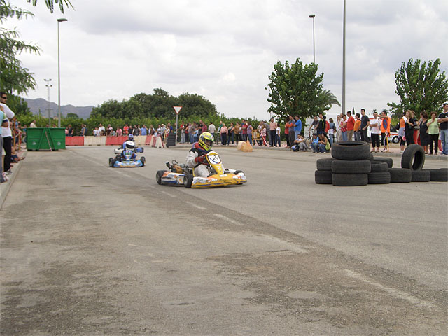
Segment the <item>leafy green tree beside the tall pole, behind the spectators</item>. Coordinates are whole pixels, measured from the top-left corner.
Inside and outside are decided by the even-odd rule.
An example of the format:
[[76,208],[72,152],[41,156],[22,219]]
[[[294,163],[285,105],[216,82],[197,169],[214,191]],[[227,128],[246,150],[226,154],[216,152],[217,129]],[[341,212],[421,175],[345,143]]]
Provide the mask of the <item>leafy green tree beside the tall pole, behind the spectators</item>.
[[277,62],[269,76],[268,111],[281,119],[297,115],[304,120],[339,104],[334,94],[323,91],[323,73],[316,76],[317,69],[316,64],[303,64],[298,58],[291,66],[288,61]]

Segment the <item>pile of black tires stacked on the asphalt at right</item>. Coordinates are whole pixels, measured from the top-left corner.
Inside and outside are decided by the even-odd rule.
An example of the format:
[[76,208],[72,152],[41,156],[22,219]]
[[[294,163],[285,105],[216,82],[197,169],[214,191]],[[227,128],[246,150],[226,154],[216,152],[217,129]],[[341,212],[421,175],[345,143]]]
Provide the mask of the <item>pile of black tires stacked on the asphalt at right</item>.
[[401,168],[392,168],[391,158],[374,158],[363,141],[333,144],[332,158],[319,159],[314,179],[318,184],[365,186],[367,184],[448,181],[448,169],[422,169],[425,153],[419,145],[407,146]]

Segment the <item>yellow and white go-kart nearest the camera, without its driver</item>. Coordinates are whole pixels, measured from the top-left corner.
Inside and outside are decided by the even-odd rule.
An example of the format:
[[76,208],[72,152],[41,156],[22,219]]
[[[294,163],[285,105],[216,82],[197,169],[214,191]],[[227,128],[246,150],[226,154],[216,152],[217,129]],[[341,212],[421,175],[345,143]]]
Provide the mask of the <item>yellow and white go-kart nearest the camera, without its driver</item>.
[[165,162],[169,170],[159,170],[155,174],[158,184],[171,186],[185,186],[186,188],[204,188],[239,185],[247,182],[244,172],[235,169],[224,169],[221,158],[215,151],[205,155],[208,177],[194,176],[194,169],[186,164],[179,165],[176,160]]

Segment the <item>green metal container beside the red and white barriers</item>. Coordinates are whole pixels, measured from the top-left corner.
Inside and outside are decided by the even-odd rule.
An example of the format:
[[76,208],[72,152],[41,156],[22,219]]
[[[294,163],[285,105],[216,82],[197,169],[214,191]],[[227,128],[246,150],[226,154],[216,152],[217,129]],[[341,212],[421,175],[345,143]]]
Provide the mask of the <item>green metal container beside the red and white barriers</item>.
[[65,129],[60,127],[28,127],[28,151],[57,151],[65,149]]

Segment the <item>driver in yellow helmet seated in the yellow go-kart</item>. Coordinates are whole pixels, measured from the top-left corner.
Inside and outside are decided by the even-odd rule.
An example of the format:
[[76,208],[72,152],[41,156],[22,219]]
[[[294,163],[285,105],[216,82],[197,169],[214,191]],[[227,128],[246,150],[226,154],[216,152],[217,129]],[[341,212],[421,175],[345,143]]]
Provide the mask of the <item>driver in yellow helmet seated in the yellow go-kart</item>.
[[195,169],[195,176],[207,177],[210,172],[207,168],[205,155],[211,151],[214,136],[209,132],[201,133],[199,140],[193,144],[187,155],[187,166]]

